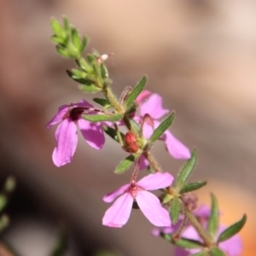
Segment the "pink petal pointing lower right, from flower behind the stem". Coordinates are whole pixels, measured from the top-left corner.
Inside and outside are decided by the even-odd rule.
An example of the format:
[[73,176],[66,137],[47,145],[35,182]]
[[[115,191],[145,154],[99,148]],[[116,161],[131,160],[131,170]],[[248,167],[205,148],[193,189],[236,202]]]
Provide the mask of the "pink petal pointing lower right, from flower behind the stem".
[[163,139],[166,142],[166,148],[169,154],[175,159],[189,159],[191,157],[189,148],[177,140],[170,131],[165,131]]

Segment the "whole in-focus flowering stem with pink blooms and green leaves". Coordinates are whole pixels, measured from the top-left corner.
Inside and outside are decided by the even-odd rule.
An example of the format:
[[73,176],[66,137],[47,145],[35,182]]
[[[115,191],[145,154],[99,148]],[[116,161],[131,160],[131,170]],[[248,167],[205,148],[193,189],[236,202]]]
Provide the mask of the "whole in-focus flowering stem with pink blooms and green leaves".
[[[121,174],[135,165],[130,183],[103,197],[105,202],[114,202],[105,212],[102,224],[120,228],[127,223],[132,207],[139,207],[151,224],[160,227],[160,230],[154,230],[154,235],[177,246],[176,256],[207,256],[208,253],[211,256],[222,256],[224,253],[238,256],[241,253],[241,239],[237,233],[246,223],[246,215],[236,224],[225,228],[218,223],[218,203],[214,195],[211,209],[201,207],[195,211],[195,197],[189,195],[207,184],[205,181],[189,182],[195,170],[197,150],[190,152],[172,135],[169,127],[175,113],[163,108],[160,95],[144,90],[147,77],[144,76],[134,88],[125,88],[118,99],[109,86],[112,81],[108,79],[105,65],[112,54],[100,55],[93,50],[85,59],[83,54],[87,36],[80,38],[78,30],[70,26],[67,18],[64,18],[64,26],[53,19],[52,28],[55,34],[51,39],[57,44],[57,52],[76,62],[76,68],[67,70],[68,76],[80,84],[80,90],[101,92],[103,96],[93,99],[101,109],[82,100],[61,106],[49,121],[48,128],[59,124],[52,154],[55,166],[60,167],[73,160],[78,143],[78,127],[92,148],[101,149],[106,134],[127,152],[128,156],[116,166],[115,173]],[[123,126],[122,129],[119,129],[120,126]],[[122,132],[124,126],[127,130],[125,134]],[[186,160],[175,183],[170,173],[161,170],[151,152],[157,140],[165,143],[167,152],[174,159]],[[137,181],[138,172],[145,169],[150,174]],[[159,197],[148,192],[156,189],[160,189]]]

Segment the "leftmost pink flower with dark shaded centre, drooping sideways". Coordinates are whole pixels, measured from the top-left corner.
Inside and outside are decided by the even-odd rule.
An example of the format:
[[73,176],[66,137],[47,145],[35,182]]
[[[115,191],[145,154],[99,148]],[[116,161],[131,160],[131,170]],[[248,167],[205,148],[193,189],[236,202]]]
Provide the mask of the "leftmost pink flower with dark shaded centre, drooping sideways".
[[55,131],[57,146],[52,154],[55,166],[64,166],[73,159],[78,143],[77,125],[79,125],[79,130],[82,132],[85,141],[92,148],[100,149],[103,147],[105,137],[102,131],[102,124],[90,123],[81,117],[84,111],[86,113],[94,113],[91,108],[93,106],[84,100],[70,106],[63,105],[59,108],[59,112],[56,113],[55,117],[49,121],[48,129],[52,125],[61,122]]

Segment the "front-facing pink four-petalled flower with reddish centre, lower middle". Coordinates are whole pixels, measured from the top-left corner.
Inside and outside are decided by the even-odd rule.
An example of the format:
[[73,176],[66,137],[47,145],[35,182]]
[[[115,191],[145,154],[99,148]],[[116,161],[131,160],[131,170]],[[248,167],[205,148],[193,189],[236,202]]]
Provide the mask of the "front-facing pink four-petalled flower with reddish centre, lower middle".
[[137,201],[143,214],[148,220],[158,227],[171,226],[169,213],[160,204],[160,200],[147,190],[162,189],[172,184],[173,177],[167,172],[156,172],[143,177],[136,184],[125,184],[114,192],[105,195],[103,201],[112,202],[102,218],[102,224],[120,228],[125,225],[131,215],[133,200]]

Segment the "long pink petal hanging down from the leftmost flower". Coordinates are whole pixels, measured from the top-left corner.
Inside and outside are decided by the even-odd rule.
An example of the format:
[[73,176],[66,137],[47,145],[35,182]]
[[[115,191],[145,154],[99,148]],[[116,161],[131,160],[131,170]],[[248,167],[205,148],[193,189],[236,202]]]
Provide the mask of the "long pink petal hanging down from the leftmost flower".
[[55,131],[57,146],[52,154],[55,166],[70,163],[78,143],[77,127],[70,119],[64,119]]

